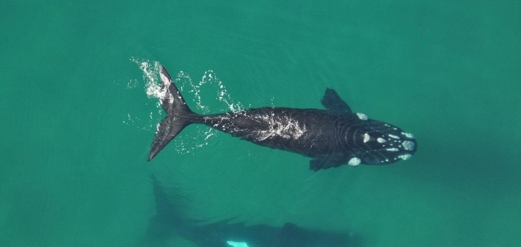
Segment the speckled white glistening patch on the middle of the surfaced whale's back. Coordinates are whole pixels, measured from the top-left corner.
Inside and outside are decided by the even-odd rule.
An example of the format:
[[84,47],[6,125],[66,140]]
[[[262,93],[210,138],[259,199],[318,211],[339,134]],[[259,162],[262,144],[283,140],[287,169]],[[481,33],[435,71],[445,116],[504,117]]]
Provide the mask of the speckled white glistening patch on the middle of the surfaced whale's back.
[[264,141],[268,138],[282,137],[285,139],[299,139],[306,131],[305,126],[301,126],[299,121],[286,116],[263,115],[255,117],[255,120],[266,123],[268,130],[257,131],[257,141]]

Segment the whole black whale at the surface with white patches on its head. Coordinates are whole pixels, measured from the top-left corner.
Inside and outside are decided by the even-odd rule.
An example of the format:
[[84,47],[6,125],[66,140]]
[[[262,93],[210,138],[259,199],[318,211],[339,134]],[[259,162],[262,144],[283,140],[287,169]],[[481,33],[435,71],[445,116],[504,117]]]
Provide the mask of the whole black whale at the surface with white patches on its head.
[[159,123],[148,155],[150,161],[181,130],[200,123],[257,145],[311,157],[309,169],[317,171],[343,164],[383,165],[405,160],[416,152],[411,133],[389,123],[353,113],[336,91],[326,89],[323,109],[262,107],[212,115],[188,108],[181,93],[161,66],[167,116]]

